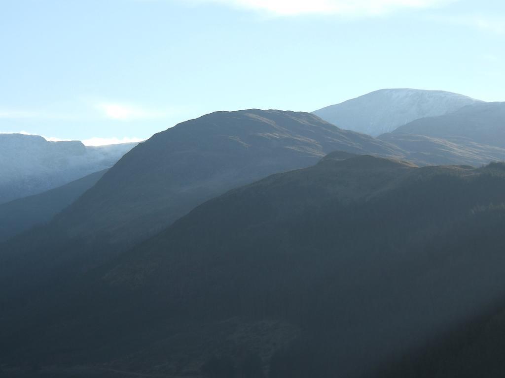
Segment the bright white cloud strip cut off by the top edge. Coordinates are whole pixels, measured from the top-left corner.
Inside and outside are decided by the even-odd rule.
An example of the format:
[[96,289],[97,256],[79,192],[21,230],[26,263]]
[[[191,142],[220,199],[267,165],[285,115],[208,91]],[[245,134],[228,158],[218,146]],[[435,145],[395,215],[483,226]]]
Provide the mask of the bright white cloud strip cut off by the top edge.
[[443,6],[458,0],[193,0],[215,3],[275,15],[337,14],[379,15],[398,9],[423,9]]

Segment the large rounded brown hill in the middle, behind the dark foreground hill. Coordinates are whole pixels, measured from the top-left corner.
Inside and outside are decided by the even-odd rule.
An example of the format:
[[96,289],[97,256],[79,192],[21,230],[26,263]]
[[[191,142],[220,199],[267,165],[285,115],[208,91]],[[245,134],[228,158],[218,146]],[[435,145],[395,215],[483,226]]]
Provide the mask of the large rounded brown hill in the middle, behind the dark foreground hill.
[[[156,234],[198,204],[333,150],[394,156],[395,147],[310,113],[216,112],[132,149],[52,222],[0,246],[0,301],[62,285]],[[23,279],[27,277],[27,279]]]

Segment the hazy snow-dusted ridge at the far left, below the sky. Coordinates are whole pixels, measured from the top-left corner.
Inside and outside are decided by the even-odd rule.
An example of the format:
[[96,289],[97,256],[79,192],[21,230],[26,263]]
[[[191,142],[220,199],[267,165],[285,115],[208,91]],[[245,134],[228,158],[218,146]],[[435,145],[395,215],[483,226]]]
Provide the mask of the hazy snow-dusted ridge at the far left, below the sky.
[[0,134],[0,204],[110,168],[135,145],[86,147],[79,141]]

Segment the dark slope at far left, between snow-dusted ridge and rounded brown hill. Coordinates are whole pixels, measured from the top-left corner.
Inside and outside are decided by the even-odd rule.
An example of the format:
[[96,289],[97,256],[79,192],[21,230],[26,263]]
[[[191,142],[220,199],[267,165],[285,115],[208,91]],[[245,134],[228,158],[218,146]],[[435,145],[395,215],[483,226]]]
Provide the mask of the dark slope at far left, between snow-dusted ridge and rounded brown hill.
[[47,223],[93,186],[107,170],[34,196],[0,204],[0,242],[29,228]]

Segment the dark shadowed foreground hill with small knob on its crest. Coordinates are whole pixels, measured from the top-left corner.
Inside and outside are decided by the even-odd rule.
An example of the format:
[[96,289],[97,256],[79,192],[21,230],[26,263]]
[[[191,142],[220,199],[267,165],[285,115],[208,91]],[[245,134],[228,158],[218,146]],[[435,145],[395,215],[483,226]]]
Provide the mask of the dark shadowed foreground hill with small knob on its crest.
[[362,376],[503,298],[504,203],[503,164],[330,154],[4,306],[0,355],[161,376]]

